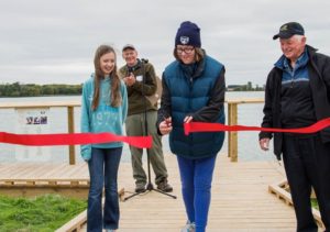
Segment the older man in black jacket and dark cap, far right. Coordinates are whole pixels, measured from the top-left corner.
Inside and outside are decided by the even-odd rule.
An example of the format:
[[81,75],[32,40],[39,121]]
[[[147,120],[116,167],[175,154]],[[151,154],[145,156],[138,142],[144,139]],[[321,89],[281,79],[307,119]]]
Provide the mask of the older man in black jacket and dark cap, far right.
[[[285,23],[279,38],[282,57],[267,77],[263,128],[305,128],[330,117],[330,57],[306,44],[304,27]],[[260,133],[267,151],[274,136],[274,153],[283,154],[297,218],[297,231],[318,231],[310,194],[315,189],[326,230],[330,230],[330,128],[318,133]]]

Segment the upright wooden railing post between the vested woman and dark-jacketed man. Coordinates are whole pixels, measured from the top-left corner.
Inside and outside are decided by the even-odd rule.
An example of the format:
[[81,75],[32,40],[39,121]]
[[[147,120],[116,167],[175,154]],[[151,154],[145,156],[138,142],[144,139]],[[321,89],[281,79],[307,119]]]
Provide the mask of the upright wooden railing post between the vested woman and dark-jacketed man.
[[[228,124],[238,124],[238,103],[228,102]],[[231,162],[238,162],[238,132],[228,133],[228,154]]]

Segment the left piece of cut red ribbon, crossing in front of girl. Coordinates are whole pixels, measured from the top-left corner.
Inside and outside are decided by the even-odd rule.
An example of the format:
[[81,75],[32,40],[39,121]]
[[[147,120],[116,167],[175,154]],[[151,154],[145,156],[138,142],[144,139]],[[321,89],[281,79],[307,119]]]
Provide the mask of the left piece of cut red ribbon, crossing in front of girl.
[[12,134],[0,132],[0,142],[28,146],[124,142],[139,148],[150,148],[152,146],[152,136],[121,136],[110,133]]

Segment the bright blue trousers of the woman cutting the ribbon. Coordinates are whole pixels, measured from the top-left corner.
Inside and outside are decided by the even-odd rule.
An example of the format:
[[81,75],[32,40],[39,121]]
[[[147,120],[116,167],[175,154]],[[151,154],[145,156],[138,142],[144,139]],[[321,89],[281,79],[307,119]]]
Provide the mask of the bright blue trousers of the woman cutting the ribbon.
[[216,158],[216,154],[200,159],[177,155],[186,212],[188,220],[196,223],[196,232],[205,232],[207,225]]

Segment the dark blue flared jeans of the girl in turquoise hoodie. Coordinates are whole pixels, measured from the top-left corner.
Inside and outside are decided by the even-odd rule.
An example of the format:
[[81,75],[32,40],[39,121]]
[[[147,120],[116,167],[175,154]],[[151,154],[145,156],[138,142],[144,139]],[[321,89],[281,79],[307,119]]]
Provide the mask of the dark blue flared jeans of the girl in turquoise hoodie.
[[[91,148],[88,162],[90,188],[87,209],[87,231],[101,232],[105,229],[118,229],[118,168],[122,147]],[[102,190],[105,185],[106,203],[102,217]]]

